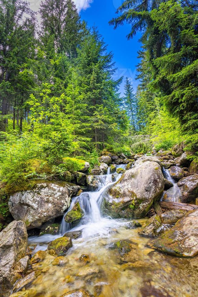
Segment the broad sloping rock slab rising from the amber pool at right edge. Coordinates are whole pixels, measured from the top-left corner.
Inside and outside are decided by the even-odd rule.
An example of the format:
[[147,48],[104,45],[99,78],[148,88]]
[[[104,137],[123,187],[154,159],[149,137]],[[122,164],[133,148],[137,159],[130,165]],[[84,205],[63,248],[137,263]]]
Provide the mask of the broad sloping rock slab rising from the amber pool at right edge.
[[193,257],[198,254],[198,209],[186,213],[175,226],[152,245],[167,254]]

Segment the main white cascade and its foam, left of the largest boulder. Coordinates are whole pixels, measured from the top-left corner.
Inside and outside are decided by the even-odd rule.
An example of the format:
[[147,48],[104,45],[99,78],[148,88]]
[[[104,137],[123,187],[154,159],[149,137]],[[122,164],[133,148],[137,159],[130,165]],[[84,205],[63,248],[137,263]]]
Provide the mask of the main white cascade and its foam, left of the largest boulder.
[[[126,167],[125,164],[115,166],[116,169],[125,169]],[[112,175],[114,175],[114,179]],[[111,217],[103,217],[101,215],[103,192],[108,186],[117,182],[121,176],[122,174],[118,174],[116,172],[110,174],[110,167],[108,167],[106,175],[96,175],[99,183],[98,190],[95,192],[83,192],[79,196],[72,199],[69,209],[63,216],[58,235],[45,234],[42,236],[33,236],[28,239],[30,244],[37,244],[34,252],[38,250],[45,250],[49,242],[63,236],[68,231],[82,230],[81,239],[75,240],[75,242],[78,242],[78,244],[80,244],[81,240],[90,241],[97,239],[98,237],[107,236],[107,234],[111,232],[112,228],[116,228],[120,225],[125,225],[126,220],[124,219],[114,220]],[[84,212],[84,216],[80,220],[80,223],[78,225],[72,227],[71,224],[65,222],[64,217],[73,208],[76,202],[79,202],[81,209]]]

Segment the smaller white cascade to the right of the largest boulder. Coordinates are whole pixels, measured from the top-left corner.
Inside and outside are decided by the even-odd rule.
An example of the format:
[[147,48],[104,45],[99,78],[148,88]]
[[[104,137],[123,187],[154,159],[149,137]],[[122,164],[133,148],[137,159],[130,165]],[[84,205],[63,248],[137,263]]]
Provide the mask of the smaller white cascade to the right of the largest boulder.
[[161,201],[163,200],[163,201],[179,202],[180,189],[177,185],[177,182],[174,179],[172,179],[168,169],[163,168],[163,175],[168,181],[172,182],[173,187],[171,187],[166,192],[164,192],[164,194],[167,193],[167,199],[164,199],[164,194],[163,194]]

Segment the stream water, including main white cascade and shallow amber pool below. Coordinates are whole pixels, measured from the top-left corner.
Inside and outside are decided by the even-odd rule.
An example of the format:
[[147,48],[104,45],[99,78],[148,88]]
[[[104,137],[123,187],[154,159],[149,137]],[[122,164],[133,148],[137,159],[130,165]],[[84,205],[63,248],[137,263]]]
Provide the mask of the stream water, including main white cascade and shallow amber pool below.
[[[116,180],[120,176],[116,174]],[[113,183],[112,175],[108,169],[107,175],[97,178],[97,192],[84,192],[72,199],[69,210],[79,201],[85,213],[79,225],[71,229],[63,217],[59,235],[29,238],[29,246],[36,252],[47,249],[49,242],[68,230],[82,230],[82,237],[72,240],[64,266],[52,265],[54,257],[48,253],[44,261],[32,266],[28,272],[37,271],[38,277],[26,288],[31,289],[27,296],[59,297],[79,288],[100,297],[197,296],[197,258],[180,259],[157,252],[147,245],[152,239],[140,237],[138,229],[128,228],[129,220],[103,217],[102,194]],[[117,240],[132,242],[135,250],[123,258],[114,248]]]

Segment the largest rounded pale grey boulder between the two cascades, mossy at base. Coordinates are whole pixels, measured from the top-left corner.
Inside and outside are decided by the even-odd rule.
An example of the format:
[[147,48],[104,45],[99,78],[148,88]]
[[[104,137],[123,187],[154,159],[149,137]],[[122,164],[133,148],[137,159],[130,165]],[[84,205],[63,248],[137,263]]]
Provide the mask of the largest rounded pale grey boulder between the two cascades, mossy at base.
[[102,210],[113,218],[143,218],[164,189],[164,177],[156,162],[144,162],[127,170],[103,193]]

